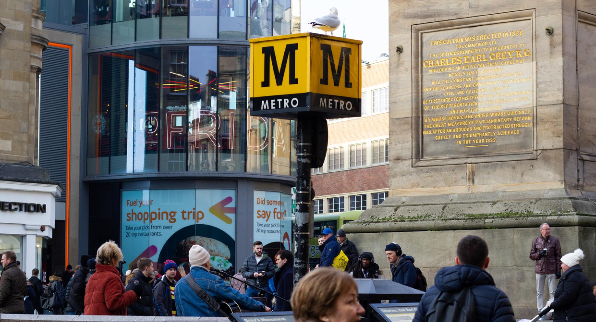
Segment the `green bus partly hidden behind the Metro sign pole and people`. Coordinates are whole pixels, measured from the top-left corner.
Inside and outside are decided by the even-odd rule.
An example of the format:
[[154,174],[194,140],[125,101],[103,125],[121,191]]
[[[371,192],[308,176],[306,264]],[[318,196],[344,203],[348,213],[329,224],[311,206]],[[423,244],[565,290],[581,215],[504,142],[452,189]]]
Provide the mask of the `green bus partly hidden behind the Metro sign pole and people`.
[[[339,228],[342,228],[343,224],[347,224],[350,221],[358,219],[360,214],[364,210],[351,210],[345,212],[332,212],[332,213],[321,213],[319,215],[315,215],[315,222],[313,223],[313,234],[315,237],[312,237],[309,240],[309,266],[315,268],[317,264],[319,264],[319,258],[321,258],[321,252],[319,251],[319,234],[325,228],[331,228],[333,233],[336,234]],[[296,224],[296,219],[292,217],[292,236],[294,236],[294,224]]]

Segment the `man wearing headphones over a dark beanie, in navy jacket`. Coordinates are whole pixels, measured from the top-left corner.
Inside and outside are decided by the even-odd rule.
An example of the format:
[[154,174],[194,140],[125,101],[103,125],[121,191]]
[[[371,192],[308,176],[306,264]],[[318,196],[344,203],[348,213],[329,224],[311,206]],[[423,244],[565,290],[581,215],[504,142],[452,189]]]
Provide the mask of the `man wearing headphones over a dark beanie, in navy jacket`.
[[[385,254],[389,261],[391,280],[395,283],[414,287],[418,276],[414,267],[414,258],[402,253],[402,247],[398,243],[390,243],[385,246]],[[400,300],[390,300],[389,303],[399,303]]]

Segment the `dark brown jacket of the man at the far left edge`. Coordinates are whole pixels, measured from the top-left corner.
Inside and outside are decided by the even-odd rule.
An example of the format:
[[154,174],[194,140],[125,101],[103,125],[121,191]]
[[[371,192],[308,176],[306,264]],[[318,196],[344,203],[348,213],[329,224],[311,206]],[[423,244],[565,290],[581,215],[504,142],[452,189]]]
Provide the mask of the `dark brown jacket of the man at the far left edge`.
[[27,280],[17,263],[8,264],[0,278],[0,313],[23,314],[27,295]]

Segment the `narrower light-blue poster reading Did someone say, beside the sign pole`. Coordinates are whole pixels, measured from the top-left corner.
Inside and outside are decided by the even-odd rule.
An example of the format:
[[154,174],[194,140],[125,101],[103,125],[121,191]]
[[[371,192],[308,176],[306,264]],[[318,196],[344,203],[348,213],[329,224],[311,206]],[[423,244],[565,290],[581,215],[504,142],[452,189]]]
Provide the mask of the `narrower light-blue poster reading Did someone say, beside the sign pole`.
[[273,257],[280,249],[291,249],[291,196],[273,191],[254,191],[253,240]]

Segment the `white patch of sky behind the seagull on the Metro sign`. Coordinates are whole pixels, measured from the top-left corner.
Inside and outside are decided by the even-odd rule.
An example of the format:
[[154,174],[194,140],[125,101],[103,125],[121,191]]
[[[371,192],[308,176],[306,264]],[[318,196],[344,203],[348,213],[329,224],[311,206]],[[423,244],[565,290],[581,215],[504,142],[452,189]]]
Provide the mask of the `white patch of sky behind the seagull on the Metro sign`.
[[337,16],[342,21],[333,35],[342,37],[345,20],[346,38],[362,41],[362,60],[374,61],[383,52],[389,54],[387,0],[302,0],[300,1],[300,32],[324,33],[312,28],[308,23],[317,17],[329,14],[331,7],[337,8]]

